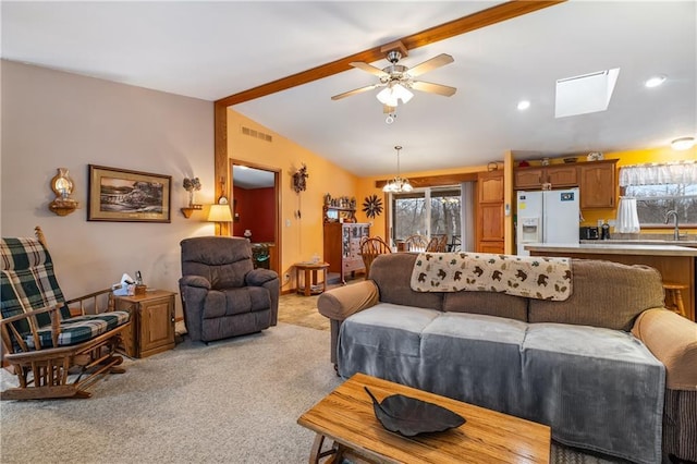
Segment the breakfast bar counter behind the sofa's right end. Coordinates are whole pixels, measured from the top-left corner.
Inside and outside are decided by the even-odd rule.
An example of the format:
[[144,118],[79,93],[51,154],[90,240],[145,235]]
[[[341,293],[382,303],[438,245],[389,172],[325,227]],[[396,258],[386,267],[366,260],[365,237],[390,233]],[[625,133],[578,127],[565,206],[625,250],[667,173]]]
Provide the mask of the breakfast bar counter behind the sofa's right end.
[[695,320],[697,288],[697,248],[677,245],[625,243],[534,243],[525,246],[531,256],[565,256],[582,259],[604,259],[625,265],[651,266],[661,272],[663,282],[686,285],[682,290],[687,317]]

